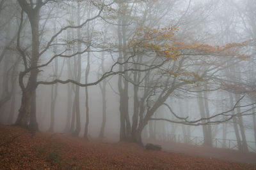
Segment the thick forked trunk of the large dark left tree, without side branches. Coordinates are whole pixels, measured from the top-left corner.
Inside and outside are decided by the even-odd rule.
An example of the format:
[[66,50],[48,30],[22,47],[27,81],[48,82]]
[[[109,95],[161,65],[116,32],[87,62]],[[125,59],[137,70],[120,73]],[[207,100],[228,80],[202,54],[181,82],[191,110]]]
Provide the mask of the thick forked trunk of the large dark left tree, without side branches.
[[[26,1],[19,0],[19,4],[22,9],[27,13],[29,22],[31,25],[32,33],[32,53],[31,53],[31,67],[36,67],[39,57],[39,12],[41,4],[36,4],[35,8],[32,8]],[[19,109],[19,116],[15,124],[22,127],[29,127],[33,130],[38,130],[36,122],[36,79],[38,76],[38,69],[32,69],[30,71],[28,83],[26,87],[23,84],[24,75],[20,74],[19,84],[22,89],[22,101]]]

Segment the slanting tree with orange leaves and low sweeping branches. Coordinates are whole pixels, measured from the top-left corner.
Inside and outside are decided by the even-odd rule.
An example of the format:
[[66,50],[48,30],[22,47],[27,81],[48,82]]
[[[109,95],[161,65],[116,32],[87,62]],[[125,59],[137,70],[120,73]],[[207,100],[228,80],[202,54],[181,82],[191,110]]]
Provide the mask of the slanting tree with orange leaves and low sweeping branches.
[[[170,94],[181,87],[183,87],[183,89],[191,89],[198,87],[200,82],[209,82],[214,79],[214,75],[216,75],[218,71],[223,69],[221,66],[214,64],[214,62],[210,62],[210,60],[216,60],[218,59],[218,56],[230,56],[234,58],[235,56],[245,57],[243,54],[235,53],[237,48],[241,48],[245,45],[243,43],[234,43],[225,46],[210,46],[199,43],[187,44],[180,42],[179,39],[174,36],[175,31],[177,31],[175,27],[165,27],[159,29],[159,31],[156,29],[142,28],[138,29],[136,36],[130,41],[133,48],[136,48],[136,53],[154,53],[158,59],[162,58],[164,64],[161,65],[162,72],[160,76],[163,76],[163,74],[167,76],[164,81],[155,81],[156,83],[153,86],[154,95],[151,94],[152,96],[150,96],[152,97],[154,104],[148,108],[135,133],[136,138],[134,138],[134,140],[138,143],[141,143],[141,132],[149,120],[166,120],[165,118],[152,118],[152,115],[154,115],[156,110],[164,103],[164,101],[166,101]],[[227,58],[230,59],[229,57]],[[205,64],[207,64],[207,68],[204,66]],[[191,68],[188,66],[191,66]],[[195,66],[197,66],[198,69],[192,71]],[[215,74],[212,74],[211,72]],[[159,73],[156,72],[154,75],[157,77],[157,74]],[[151,76],[154,77],[153,75]],[[156,87],[159,87],[158,92]],[[155,99],[153,99],[153,97]],[[214,117],[216,116],[201,118],[199,120],[210,120]],[[177,116],[176,118],[180,117]],[[186,120],[187,118],[180,119],[183,120],[181,121],[182,124],[195,125],[196,123],[196,121]],[[228,120],[229,118],[225,119],[225,121]],[[224,120],[214,122],[209,121],[198,123],[196,125],[206,125],[217,122],[221,123],[223,121]],[[177,121],[169,122],[178,123]]]

